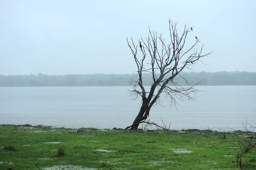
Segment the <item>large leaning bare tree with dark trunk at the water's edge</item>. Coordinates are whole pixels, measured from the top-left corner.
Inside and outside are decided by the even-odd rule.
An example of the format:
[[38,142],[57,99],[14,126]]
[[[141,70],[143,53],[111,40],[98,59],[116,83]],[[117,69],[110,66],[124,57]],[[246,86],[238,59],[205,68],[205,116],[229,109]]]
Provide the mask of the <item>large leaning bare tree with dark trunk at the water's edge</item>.
[[[169,20],[169,43],[165,43],[165,39],[157,32],[151,32],[149,28],[148,37],[144,39],[141,37],[142,46],[138,50],[138,44],[135,45],[131,38],[131,44],[128,41],[128,46],[134,56],[134,61],[137,64],[138,80],[130,80],[133,89],[130,90],[131,95],[135,98],[141,98],[142,105],[140,111],[135,118],[133,124],[126,129],[137,130],[139,124],[148,118],[152,106],[159,104],[161,93],[166,95],[170,104],[175,104],[176,100],[192,99],[191,93],[198,92],[194,89],[194,85],[190,85],[186,81],[187,86],[180,86],[177,83],[177,78],[183,78],[180,72],[185,69],[194,68],[194,64],[201,61],[201,58],[211,54],[202,54],[203,46],[198,50],[195,47],[200,42],[199,38],[195,36],[195,43],[189,48],[185,47],[188,34],[192,31],[189,26],[184,26],[181,35],[177,33],[177,23]],[[142,55],[140,55],[142,54]],[[140,59],[141,58],[141,59]],[[148,61],[148,63],[147,63]],[[202,61],[201,61],[202,62]],[[202,62],[203,63],[203,62]],[[152,85],[149,91],[146,91],[143,86],[143,73],[148,72],[152,75]],[[185,78],[183,78],[185,79]],[[185,79],[186,80],[186,79]],[[198,82],[199,83],[199,82]]]

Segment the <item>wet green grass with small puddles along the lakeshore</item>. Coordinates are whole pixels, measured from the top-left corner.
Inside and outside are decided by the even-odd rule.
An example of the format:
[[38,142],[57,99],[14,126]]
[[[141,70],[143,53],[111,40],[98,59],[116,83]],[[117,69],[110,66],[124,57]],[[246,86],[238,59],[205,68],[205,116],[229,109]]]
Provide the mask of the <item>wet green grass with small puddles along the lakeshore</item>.
[[[239,165],[232,162],[236,161],[233,147],[239,147],[237,132],[225,132],[225,139],[223,132],[183,132],[0,125],[0,170],[54,166],[78,170],[239,170]],[[6,146],[16,151],[6,150]],[[175,153],[181,149],[192,153]],[[57,156],[62,151],[64,154]],[[255,158],[255,152],[243,157],[244,169],[255,170],[256,162],[249,161]]]

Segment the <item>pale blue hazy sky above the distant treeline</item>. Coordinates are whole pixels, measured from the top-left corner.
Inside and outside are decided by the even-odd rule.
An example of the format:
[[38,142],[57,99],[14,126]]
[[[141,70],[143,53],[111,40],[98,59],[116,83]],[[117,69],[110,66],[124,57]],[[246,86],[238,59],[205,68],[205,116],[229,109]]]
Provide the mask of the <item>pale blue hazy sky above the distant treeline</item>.
[[[256,72],[256,0],[0,0],[0,75],[133,73],[126,37],[171,18],[204,44],[209,66]],[[180,30],[181,32],[182,30]],[[191,41],[191,39],[190,39]]]

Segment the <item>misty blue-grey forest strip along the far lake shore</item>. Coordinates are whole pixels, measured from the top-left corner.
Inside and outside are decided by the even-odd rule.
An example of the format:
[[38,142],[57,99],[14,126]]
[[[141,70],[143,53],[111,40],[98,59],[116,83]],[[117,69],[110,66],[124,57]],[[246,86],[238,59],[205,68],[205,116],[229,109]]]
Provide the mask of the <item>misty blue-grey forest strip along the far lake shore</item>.
[[[256,85],[256,72],[183,72],[180,74],[190,84],[201,81],[202,86]],[[129,80],[137,80],[137,74],[87,74],[87,75],[0,75],[1,87],[12,86],[128,86]],[[180,85],[186,81],[177,77]],[[143,75],[143,85],[152,84],[152,75]]]

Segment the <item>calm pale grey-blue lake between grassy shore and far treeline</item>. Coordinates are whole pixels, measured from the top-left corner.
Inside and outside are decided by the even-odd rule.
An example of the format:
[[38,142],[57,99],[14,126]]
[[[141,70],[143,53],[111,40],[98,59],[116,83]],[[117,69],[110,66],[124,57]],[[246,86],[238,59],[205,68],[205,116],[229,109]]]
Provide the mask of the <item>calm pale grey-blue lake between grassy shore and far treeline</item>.
[[[148,87],[149,88],[149,87]],[[140,100],[128,87],[1,87],[0,124],[44,124],[55,127],[125,128],[132,124]],[[256,126],[256,86],[197,86],[195,101],[177,108],[157,105],[150,121],[170,129],[243,130]],[[164,106],[168,102],[163,98]],[[141,128],[141,125],[140,127]]]

